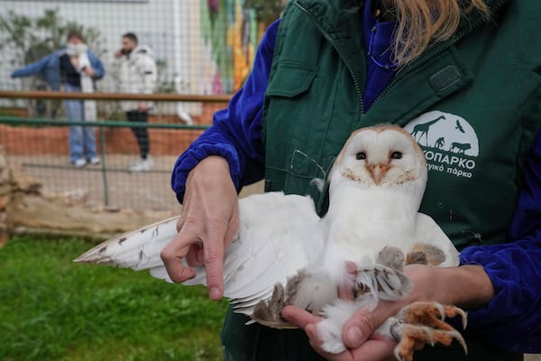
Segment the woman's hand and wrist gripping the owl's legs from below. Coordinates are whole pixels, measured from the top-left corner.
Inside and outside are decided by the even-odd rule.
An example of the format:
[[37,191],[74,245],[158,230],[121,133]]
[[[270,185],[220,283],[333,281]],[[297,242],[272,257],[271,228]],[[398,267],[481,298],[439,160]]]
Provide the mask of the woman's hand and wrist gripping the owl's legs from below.
[[[342,338],[347,349],[341,354],[328,354],[321,348],[316,329],[321,319],[294,306],[284,308],[282,316],[304,329],[312,347],[326,359],[376,361],[394,359],[396,342],[378,337],[373,332],[385,319],[396,315],[404,306],[414,301],[437,301],[466,309],[477,308],[491,301],[494,296],[491,280],[479,265],[438,268],[412,264],[406,266],[404,272],[414,283],[413,291],[399,301],[380,301],[371,312],[355,312],[344,325]],[[340,297],[351,299],[351,294],[348,295],[341,288]]]

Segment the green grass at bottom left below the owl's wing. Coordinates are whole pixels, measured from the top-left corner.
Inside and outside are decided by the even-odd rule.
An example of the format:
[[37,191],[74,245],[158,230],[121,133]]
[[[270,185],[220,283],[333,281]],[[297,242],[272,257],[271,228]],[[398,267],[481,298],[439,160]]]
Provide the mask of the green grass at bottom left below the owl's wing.
[[74,264],[77,239],[0,248],[0,360],[221,360],[226,301],[147,272]]

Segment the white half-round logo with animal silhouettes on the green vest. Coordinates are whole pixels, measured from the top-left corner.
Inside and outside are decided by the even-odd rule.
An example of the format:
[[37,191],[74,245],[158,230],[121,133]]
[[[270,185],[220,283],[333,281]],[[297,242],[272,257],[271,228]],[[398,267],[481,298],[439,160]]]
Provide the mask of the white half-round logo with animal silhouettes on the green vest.
[[479,138],[462,117],[436,110],[418,116],[404,129],[423,148],[428,170],[472,178]]

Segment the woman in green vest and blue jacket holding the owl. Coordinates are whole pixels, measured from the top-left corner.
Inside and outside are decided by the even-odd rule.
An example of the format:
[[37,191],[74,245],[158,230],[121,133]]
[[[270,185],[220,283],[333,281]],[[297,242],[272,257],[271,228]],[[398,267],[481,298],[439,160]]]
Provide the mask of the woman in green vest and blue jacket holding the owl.
[[[324,214],[326,194],[310,180],[325,179],[353,129],[396,123],[428,160],[420,211],[462,249],[459,267],[408,266],[415,289],[406,301],[469,310],[468,356],[428,347],[416,359],[540,352],[540,10],[535,0],[290,2],[261,41],[246,85],[175,165],[182,217],[161,254],[171,279],[193,275],[179,258],[205,264],[209,295],[220,298],[237,190],[264,177],[266,190],[310,194]],[[309,339],[245,326],[230,312],[225,359],[316,359],[310,345],[328,359],[384,359],[394,345],[371,333],[401,306],[358,312],[344,328],[350,348],[336,356],[321,351],[318,319],[303,310],[282,315]]]

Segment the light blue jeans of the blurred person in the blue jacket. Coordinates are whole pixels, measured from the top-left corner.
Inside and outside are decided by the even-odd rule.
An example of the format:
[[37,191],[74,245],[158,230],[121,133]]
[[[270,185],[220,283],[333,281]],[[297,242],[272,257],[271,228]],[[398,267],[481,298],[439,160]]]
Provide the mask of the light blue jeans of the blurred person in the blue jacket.
[[[66,91],[80,92],[81,88],[65,84]],[[65,100],[64,108],[69,120],[81,121],[85,119],[85,108],[81,100]],[[91,159],[97,156],[96,134],[94,127],[73,125],[69,127],[69,160]]]

